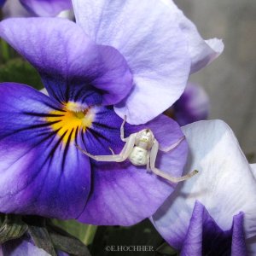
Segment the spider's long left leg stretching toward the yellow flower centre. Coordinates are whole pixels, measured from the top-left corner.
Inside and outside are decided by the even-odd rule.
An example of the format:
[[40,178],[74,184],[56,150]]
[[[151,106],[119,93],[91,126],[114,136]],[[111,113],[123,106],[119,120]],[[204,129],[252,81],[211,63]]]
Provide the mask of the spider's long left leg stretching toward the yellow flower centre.
[[90,158],[101,161],[101,162],[122,162],[128,158],[131,154],[131,150],[134,147],[136,134],[131,134],[127,138],[124,148],[119,154],[110,154],[110,155],[93,155],[85,151],[83,148],[80,148],[79,145],[76,145],[77,148],[83,153],[89,156]]

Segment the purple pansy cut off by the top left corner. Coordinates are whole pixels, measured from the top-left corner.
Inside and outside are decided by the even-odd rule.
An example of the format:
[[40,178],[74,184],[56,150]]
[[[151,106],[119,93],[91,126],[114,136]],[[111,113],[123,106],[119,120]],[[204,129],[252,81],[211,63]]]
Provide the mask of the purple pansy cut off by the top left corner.
[[0,2],[4,16],[56,16],[72,9],[71,0],[8,0]]

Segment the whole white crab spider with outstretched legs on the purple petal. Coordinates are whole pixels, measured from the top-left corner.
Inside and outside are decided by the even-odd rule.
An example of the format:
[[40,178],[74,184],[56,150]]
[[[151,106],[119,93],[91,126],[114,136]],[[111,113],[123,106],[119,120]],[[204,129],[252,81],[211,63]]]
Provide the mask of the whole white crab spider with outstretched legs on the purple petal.
[[169,152],[172,149],[177,148],[177,146],[185,138],[184,136],[181,137],[177,143],[172,144],[169,148],[160,148],[158,141],[154,138],[154,134],[150,129],[143,129],[142,131],[132,133],[129,137],[125,137],[125,121],[126,117],[124,118],[124,121],[120,127],[120,137],[121,140],[125,142],[125,146],[119,154],[114,154],[113,150],[109,148],[112,155],[93,155],[80,148],[79,145],[76,145],[76,147],[79,148],[79,150],[84,154],[97,161],[122,162],[128,158],[134,166],[147,166],[148,171],[154,172],[154,174],[164,177],[166,180],[172,183],[178,183],[186,180],[198,172],[195,170],[182,177],[172,177],[154,166],[158,150]]

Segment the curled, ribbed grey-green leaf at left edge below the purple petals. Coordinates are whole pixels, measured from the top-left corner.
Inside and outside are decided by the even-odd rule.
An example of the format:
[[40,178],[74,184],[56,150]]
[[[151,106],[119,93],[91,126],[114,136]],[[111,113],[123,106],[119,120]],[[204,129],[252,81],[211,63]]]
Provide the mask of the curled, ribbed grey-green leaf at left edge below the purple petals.
[[27,230],[27,224],[21,221],[17,215],[6,215],[0,228],[0,244],[23,236]]

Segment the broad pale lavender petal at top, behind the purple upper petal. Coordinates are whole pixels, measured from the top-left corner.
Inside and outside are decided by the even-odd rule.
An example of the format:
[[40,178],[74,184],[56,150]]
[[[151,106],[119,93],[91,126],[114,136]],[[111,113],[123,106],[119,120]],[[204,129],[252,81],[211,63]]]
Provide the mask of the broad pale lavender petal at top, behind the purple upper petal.
[[[134,89],[116,113],[131,124],[153,119],[177,101],[189,76],[186,36],[159,0],[73,0],[76,20],[98,44],[125,56]],[[138,109],[140,111],[138,111]]]

